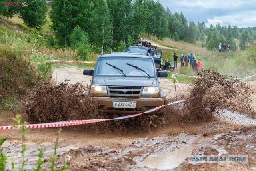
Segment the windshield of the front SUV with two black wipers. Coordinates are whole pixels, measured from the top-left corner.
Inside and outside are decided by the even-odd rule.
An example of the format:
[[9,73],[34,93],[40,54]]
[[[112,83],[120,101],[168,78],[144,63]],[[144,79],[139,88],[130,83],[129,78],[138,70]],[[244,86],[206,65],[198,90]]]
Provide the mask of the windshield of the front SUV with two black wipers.
[[[119,70],[113,66],[118,67],[126,76],[134,77],[149,77],[145,72],[131,67],[128,64],[137,66],[146,71],[151,77],[155,77],[155,67],[151,58],[132,58],[132,57],[106,57],[99,58],[95,68],[96,76],[124,76]],[[111,66],[109,65],[111,64]],[[119,71],[119,72],[118,72]]]

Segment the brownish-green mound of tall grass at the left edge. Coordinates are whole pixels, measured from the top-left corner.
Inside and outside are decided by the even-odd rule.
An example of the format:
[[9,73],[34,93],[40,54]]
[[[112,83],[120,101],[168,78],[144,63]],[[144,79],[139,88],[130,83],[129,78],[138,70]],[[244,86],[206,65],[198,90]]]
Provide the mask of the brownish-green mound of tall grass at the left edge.
[[12,95],[22,96],[36,82],[33,67],[8,45],[0,46],[0,68],[0,100]]

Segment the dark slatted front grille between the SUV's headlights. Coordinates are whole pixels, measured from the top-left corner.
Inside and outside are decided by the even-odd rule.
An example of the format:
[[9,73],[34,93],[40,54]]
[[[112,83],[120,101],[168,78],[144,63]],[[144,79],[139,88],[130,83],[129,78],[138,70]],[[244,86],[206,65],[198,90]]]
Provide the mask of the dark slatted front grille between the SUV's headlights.
[[113,98],[139,98],[142,87],[108,86],[108,94]]

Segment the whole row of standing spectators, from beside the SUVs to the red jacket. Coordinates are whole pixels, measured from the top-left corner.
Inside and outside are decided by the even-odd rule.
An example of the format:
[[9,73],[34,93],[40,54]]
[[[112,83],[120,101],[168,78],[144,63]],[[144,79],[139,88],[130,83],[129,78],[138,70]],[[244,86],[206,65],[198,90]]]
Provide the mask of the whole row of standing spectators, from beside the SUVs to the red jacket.
[[[178,54],[174,53],[173,55],[173,58],[174,58],[174,62],[175,62],[175,66],[174,66],[174,69],[177,68],[177,63],[178,63]],[[190,55],[187,53],[187,55],[185,56],[185,54],[181,54],[180,56],[180,66],[181,67],[184,67],[184,64],[185,66],[187,67],[188,66],[188,62],[190,63],[190,67],[193,68],[193,70],[197,71],[197,70],[200,70],[202,68],[202,63],[201,63],[201,60],[196,60],[195,59],[196,56],[195,54],[191,53]],[[164,62],[164,70],[169,70],[169,68],[171,67],[171,64],[168,62],[168,60],[165,60]]]

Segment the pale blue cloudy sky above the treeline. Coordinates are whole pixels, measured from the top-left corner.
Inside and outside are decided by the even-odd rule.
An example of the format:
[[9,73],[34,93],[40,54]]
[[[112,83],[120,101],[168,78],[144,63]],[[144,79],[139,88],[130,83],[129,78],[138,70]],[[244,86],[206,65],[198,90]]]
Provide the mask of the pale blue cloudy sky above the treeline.
[[159,0],[166,8],[182,12],[187,20],[196,24],[204,21],[206,26],[256,26],[256,0]]

